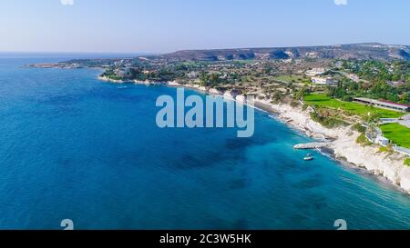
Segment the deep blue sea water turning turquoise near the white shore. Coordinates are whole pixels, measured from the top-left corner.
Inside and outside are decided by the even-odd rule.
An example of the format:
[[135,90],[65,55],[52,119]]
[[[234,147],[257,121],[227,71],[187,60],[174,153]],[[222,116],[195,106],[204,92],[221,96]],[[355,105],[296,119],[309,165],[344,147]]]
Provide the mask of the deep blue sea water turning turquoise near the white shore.
[[0,229],[410,228],[409,196],[319,153],[302,161],[292,145],[310,140],[268,114],[249,139],[159,129],[155,101],[176,89],[20,67],[59,60],[0,58]]

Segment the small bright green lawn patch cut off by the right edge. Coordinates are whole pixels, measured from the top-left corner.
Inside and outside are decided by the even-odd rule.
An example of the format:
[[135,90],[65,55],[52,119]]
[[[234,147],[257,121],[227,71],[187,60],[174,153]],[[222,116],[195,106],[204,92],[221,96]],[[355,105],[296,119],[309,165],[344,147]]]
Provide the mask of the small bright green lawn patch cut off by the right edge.
[[384,137],[399,146],[410,148],[410,128],[401,124],[382,124],[380,128]]

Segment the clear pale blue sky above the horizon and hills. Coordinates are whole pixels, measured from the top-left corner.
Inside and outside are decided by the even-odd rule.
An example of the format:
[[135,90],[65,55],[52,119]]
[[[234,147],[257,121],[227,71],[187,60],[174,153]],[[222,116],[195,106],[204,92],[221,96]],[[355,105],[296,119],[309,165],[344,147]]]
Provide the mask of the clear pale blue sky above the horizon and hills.
[[[1,0],[0,51],[410,45],[408,0]],[[336,0],[346,1],[346,0]]]

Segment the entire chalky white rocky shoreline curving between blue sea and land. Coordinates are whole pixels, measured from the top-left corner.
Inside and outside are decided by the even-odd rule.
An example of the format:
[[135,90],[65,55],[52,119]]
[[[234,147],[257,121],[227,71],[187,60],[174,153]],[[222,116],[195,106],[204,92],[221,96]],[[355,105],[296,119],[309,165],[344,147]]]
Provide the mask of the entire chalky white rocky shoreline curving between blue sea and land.
[[[116,84],[159,84],[152,82],[111,80],[102,76],[98,76],[98,79]],[[202,94],[220,95],[237,102],[238,96],[243,96],[233,96],[230,93],[222,93],[213,88],[207,89],[196,84],[179,84],[175,81],[161,85],[184,87]],[[386,183],[388,182],[398,187],[398,190],[410,194],[410,167],[404,164],[405,155],[380,153],[378,146],[374,144],[371,146],[357,144],[355,141],[360,134],[353,131],[351,126],[328,129],[321,124],[313,122],[309,111],[303,111],[302,107],[292,107],[289,104],[272,104],[268,100],[260,99],[255,99],[252,107],[272,114],[272,117],[276,120],[281,121],[283,124],[288,125],[290,128],[314,140],[330,141],[328,148],[318,150],[328,155],[337,163],[363,171],[366,174],[377,176],[382,182],[386,181]]]

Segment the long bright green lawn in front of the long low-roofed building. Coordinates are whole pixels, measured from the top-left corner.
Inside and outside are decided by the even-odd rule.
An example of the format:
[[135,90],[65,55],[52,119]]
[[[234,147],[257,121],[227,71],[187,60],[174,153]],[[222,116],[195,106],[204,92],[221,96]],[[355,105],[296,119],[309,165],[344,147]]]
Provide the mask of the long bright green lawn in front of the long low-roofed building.
[[335,109],[342,109],[351,114],[357,114],[360,116],[367,116],[368,113],[378,113],[382,118],[398,118],[404,113],[395,112],[392,110],[385,110],[382,108],[376,108],[373,106],[368,106],[365,104],[356,104],[343,102],[336,99],[332,99],[325,94],[309,94],[304,97],[304,101],[308,104],[313,104],[315,106],[329,107]]

